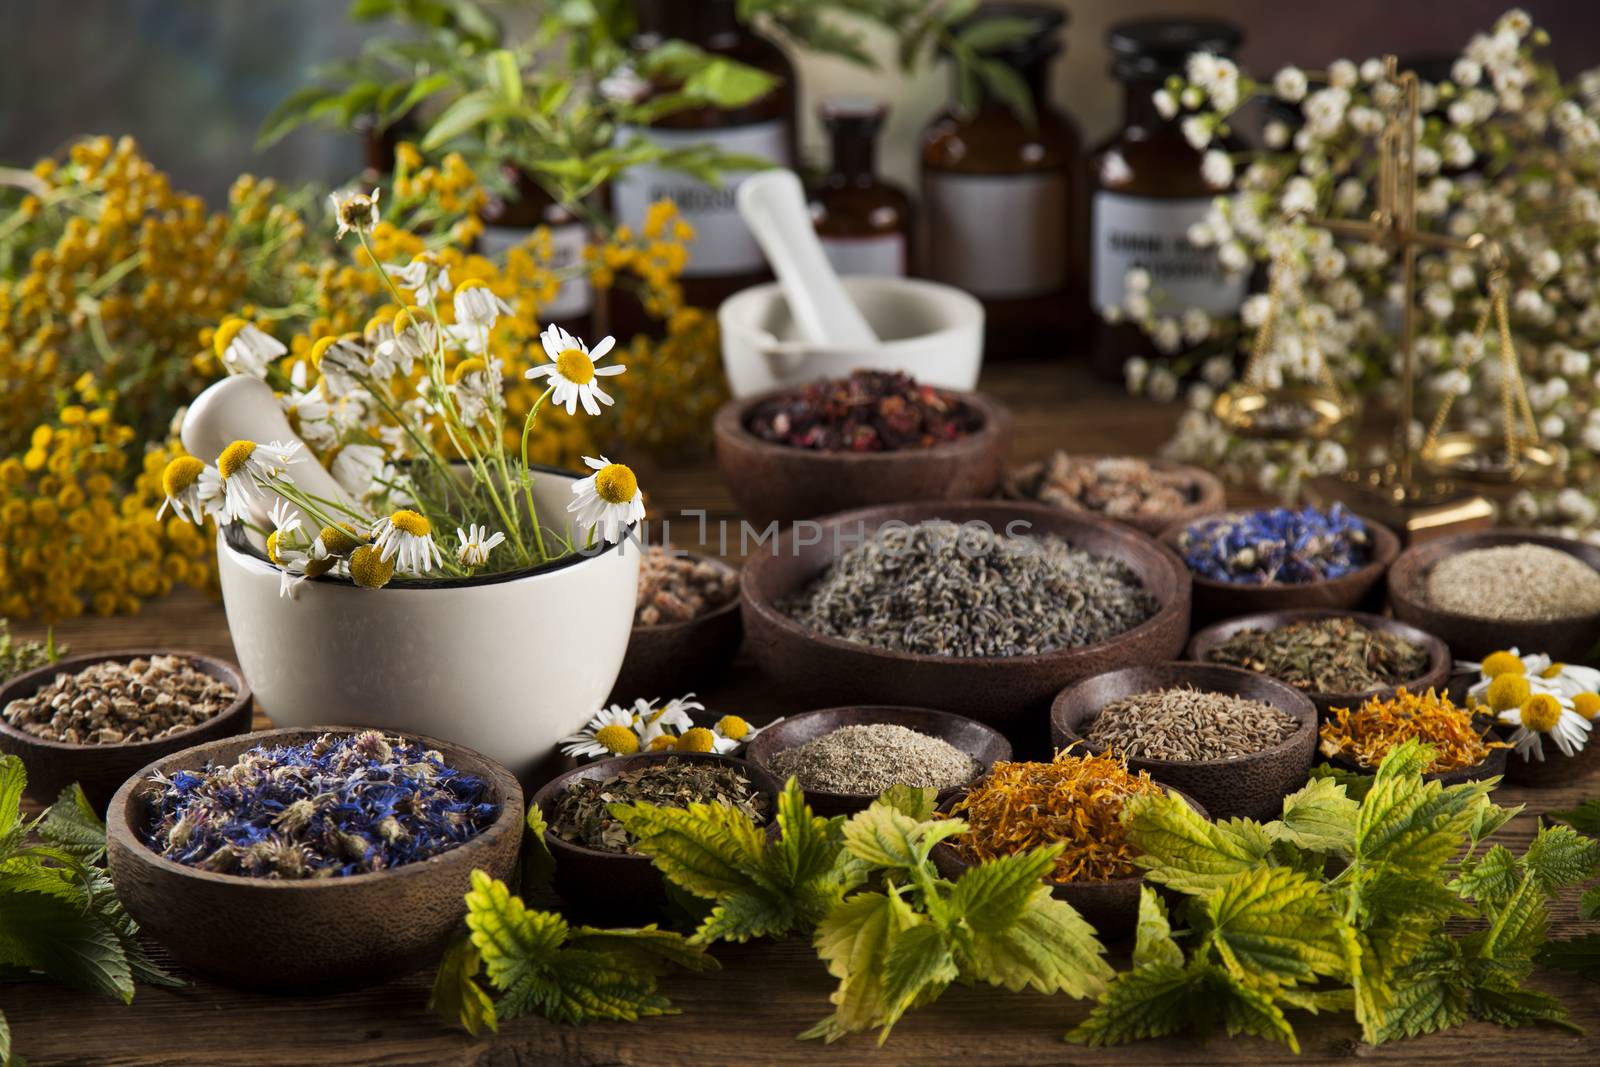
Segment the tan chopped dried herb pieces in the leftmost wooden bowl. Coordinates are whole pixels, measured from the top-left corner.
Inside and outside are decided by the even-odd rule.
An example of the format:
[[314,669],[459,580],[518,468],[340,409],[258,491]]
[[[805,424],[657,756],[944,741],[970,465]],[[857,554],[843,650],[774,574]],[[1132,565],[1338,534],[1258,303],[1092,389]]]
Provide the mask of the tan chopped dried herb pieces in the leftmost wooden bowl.
[[107,659],[58,673],[0,715],[18,729],[66,744],[160,741],[216,718],[238,694],[181,656]]

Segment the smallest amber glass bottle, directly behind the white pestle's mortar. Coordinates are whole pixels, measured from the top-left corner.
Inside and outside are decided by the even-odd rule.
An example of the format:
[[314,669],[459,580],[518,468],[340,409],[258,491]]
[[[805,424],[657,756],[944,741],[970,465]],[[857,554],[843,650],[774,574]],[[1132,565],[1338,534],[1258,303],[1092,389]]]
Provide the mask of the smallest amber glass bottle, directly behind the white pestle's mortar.
[[914,254],[910,197],[874,173],[888,106],[832,98],[818,114],[834,142],[834,163],[811,190],[822,251],[840,274],[904,277]]

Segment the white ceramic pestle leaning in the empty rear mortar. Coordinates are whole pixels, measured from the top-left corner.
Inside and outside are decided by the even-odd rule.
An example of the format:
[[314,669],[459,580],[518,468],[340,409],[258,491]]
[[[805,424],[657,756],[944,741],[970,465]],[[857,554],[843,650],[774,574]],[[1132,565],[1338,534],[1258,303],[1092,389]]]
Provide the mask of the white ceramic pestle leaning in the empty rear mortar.
[[766,170],[739,182],[739,216],[784,288],[802,339],[818,346],[870,347],[878,336],[845,293],[811,226],[794,171]]

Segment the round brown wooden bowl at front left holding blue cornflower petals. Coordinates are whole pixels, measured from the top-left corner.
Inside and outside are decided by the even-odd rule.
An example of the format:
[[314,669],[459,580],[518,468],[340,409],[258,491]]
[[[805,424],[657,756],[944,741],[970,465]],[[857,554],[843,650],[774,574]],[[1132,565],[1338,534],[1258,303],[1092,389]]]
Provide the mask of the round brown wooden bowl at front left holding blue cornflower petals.
[[306,992],[382,982],[438,963],[466,915],[472,872],[509,880],[522,846],[522,787],[472,749],[405,734],[483,779],[501,813],[469,841],[429,859],[344,878],[283,881],[221,875],[157,856],[141,840],[150,774],[230,763],[258,744],[294,744],[352,726],[267,729],[195,745],[150,763],[112,798],[107,864],[117,896],[184,968],[229,985]]

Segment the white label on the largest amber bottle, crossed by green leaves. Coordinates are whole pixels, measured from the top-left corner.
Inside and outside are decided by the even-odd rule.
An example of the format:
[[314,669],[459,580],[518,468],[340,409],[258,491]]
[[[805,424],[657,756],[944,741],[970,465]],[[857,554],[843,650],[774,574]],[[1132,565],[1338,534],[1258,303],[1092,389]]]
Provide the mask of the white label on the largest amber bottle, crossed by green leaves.
[[[726,130],[619,126],[616,136],[618,144],[643,136],[664,149],[714,144],[723,152],[789,165],[789,123],[781,118]],[[750,173],[723,171],[722,184],[712,186],[654,163],[630,166],[611,186],[611,206],[618,222],[638,232],[651,203],[670,200],[678,205],[678,214],[694,227],[694,240],[688,246],[688,266],[683,269],[686,278],[754,274],[766,269],[766,259],[733,202],[739,182]]]

